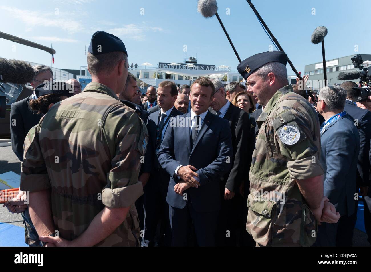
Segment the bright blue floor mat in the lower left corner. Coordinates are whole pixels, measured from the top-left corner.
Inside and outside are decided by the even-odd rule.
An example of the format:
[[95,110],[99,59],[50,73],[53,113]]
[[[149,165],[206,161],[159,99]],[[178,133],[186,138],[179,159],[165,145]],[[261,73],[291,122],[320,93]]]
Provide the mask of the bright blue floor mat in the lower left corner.
[[0,246],[28,246],[24,243],[24,228],[0,223]]

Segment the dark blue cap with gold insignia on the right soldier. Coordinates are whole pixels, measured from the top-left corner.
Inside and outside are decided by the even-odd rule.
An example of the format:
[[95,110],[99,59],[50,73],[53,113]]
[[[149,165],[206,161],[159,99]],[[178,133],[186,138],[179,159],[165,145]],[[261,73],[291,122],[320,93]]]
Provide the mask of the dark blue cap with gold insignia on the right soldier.
[[282,51],[267,51],[255,54],[238,64],[237,70],[244,79],[247,79],[257,69],[269,62],[280,62],[286,66],[287,57]]

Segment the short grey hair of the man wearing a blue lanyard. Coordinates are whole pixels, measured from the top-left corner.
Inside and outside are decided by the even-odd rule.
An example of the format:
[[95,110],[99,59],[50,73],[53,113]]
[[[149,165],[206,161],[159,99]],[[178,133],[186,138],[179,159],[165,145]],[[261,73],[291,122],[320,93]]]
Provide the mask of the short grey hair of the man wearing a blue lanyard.
[[344,110],[347,91],[339,86],[327,86],[319,91],[319,97],[321,97],[319,100],[326,103],[329,110]]

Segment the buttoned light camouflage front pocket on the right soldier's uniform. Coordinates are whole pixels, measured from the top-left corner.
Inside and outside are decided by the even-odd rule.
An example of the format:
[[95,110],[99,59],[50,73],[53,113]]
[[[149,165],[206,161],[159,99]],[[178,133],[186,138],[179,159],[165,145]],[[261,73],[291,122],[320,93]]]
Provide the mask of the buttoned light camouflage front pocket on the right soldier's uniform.
[[272,228],[277,218],[277,202],[249,194],[246,230],[260,246],[272,243]]

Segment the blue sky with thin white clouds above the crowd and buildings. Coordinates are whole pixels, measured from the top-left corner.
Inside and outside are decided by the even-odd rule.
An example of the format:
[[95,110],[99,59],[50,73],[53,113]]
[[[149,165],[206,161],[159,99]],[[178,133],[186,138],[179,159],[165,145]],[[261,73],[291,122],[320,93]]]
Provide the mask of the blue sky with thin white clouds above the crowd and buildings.
[[[304,65],[322,61],[321,44],[311,43],[311,34],[318,26],[328,28],[326,59],[371,53],[369,19],[362,15],[369,1],[252,2],[302,73]],[[269,50],[272,42],[247,1],[217,3],[219,16],[242,60]],[[95,31],[105,30],[123,40],[129,63],[183,62],[186,45],[187,57],[197,54],[199,64],[224,64],[237,70],[237,58],[219,22],[215,16],[201,16],[197,0],[2,0],[0,14],[2,32],[49,47],[53,42],[56,68],[79,69],[85,65],[85,45],[88,48]],[[0,39],[0,56],[50,65],[50,54],[14,44]],[[288,72],[293,74],[289,66]]]

